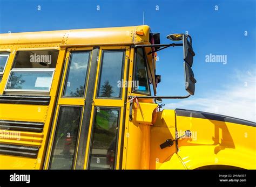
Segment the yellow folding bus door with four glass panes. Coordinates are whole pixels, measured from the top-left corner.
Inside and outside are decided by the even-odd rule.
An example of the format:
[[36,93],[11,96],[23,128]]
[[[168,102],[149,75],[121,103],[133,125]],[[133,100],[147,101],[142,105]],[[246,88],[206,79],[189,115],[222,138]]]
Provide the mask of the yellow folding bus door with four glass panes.
[[68,49],[45,169],[119,167],[129,50]]

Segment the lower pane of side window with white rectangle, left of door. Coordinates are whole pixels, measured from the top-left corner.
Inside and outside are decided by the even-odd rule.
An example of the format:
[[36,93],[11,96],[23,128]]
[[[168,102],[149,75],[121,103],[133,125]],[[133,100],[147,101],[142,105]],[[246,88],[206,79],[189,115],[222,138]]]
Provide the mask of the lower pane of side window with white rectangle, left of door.
[[11,71],[6,90],[50,91],[53,70]]

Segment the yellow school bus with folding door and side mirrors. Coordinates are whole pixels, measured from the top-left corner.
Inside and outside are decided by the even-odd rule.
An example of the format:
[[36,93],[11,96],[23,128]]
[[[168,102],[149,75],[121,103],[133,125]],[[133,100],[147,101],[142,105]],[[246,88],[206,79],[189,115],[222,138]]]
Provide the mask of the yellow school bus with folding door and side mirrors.
[[[0,34],[0,169],[256,169],[255,123],[163,110],[197,82],[191,36],[167,39],[146,25]],[[168,47],[187,96],[157,95]]]

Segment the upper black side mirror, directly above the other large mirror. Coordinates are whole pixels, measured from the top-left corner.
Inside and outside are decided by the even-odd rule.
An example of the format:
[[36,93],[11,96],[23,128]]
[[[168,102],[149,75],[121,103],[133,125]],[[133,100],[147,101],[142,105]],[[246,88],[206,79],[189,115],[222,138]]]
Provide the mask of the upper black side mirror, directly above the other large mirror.
[[[187,40],[187,38],[190,38],[190,41]],[[184,61],[187,62],[190,67],[192,67],[193,64],[193,56],[195,55],[193,48],[192,48],[192,39],[190,35],[183,34],[183,58]]]

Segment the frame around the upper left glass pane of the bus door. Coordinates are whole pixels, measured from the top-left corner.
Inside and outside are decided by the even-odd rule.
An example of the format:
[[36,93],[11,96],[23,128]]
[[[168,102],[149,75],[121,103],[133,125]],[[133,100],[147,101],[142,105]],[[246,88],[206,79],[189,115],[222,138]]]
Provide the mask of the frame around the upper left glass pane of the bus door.
[[[85,75],[85,81],[84,81],[84,95],[81,97],[74,97],[74,96],[65,96],[65,88],[66,88],[66,81],[68,81],[68,75],[70,72],[70,66],[71,66],[71,55],[72,53],[79,53],[79,52],[89,52],[89,59],[87,62],[87,68],[86,68],[86,75]],[[66,67],[66,73],[65,73],[65,77],[64,77],[64,83],[63,83],[63,88],[62,88],[62,94],[61,94],[61,98],[68,98],[68,99],[72,99],[72,98],[84,98],[85,94],[86,94],[86,85],[87,85],[87,81],[88,81],[88,75],[89,75],[89,68],[90,68],[90,63],[91,63],[91,57],[92,57],[92,50],[91,49],[87,49],[87,50],[72,50],[69,53],[69,60],[68,60],[68,66]],[[65,67],[64,67],[65,68]]]

